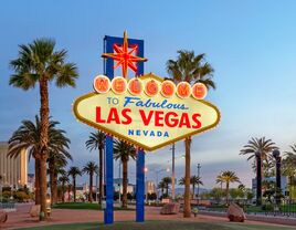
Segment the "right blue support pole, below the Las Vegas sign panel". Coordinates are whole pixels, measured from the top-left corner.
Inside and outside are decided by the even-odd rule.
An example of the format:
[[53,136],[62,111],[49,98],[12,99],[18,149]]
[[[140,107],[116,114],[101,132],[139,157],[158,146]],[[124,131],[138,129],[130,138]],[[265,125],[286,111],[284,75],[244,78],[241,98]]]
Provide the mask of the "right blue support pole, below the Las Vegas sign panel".
[[144,194],[145,194],[145,151],[139,149],[137,156],[137,185],[136,185],[136,221],[144,222],[145,220],[145,207],[144,207]]

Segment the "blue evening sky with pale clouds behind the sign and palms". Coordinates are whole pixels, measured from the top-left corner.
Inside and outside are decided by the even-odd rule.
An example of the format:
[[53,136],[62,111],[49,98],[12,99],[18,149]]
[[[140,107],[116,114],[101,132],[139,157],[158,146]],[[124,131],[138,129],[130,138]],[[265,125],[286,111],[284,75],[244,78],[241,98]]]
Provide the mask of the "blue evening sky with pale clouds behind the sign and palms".
[[[76,88],[50,88],[51,115],[72,139],[73,165],[97,160],[97,153],[84,147],[92,128],[76,122],[71,104],[92,91],[94,76],[103,73],[104,35],[120,36],[127,30],[129,38],[145,40],[149,59],[145,71],[160,76],[167,76],[166,62],[176,59],[177,50],[207,53],[218,85],[207,100],[219,106],[222,122],[193,138],[192,174],[200,163],[205,187],[214,186],[215,176],[225,169],[250,186],[251,163],[239,153],[252,136],[272,138],[283,151],[296,143],[295,10],[295,1],[1,1],[0,140],[9,139],[22,119],[39,113],[38,88],[23,92],[8,85],[9,61],[17,58],[18,44],[54,38],[57,49],[68,50],[80,79]],[[183,153],[179,143],[177,156]],[[169,148],[149,154],[148,179],[170,157]],[[133,181],[135,163],[130,165]],[[184,161],[178,159],[178,178],[183,168]]]

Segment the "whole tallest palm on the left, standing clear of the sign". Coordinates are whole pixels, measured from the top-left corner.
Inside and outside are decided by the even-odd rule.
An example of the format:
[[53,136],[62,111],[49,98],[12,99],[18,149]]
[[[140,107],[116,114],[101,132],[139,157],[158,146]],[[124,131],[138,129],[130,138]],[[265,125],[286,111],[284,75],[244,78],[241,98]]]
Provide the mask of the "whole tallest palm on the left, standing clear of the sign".
[[[19,54],[10,62],[14,74],[10,77],[10,85],[24,91],[40,87],[40,147],[36,159],[40,167],[40,197],[42,219],[46,219],[46,160],[49,157],[49,82],[55,81],[57,87],[75,86],[77,69],[73,63],[66,63],[65,50],[55,51],[55,41],[36,39],[32,43],[19,45]],[[44,217],[44,218],[43,218]]]

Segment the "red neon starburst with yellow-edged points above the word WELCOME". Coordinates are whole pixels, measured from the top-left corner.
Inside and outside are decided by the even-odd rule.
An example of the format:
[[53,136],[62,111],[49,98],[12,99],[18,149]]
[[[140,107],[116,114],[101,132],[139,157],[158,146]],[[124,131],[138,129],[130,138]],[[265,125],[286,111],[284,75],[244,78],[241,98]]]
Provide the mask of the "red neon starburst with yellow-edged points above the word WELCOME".
[[124,44],[114,44],[114,53],[103,53],[102,58],[110,58],[117,61],[114,69],[121,65],[123,76],[126,77],[127,69],[129,67],[134,72],[137,72],[137,62],[146,62],[147,59],[137,56],[138,45],[129,45],[127,42],[127,32],[124,33]]

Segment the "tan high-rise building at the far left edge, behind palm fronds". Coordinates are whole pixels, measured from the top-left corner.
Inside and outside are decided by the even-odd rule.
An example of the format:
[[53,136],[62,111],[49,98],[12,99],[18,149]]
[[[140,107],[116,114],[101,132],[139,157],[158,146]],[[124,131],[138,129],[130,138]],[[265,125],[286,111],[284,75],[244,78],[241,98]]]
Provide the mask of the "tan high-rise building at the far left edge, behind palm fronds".
[[8,157],[8,143],[0,142],[0,176],[3,186],[24,186],[28,184],[28,156],[23,149],[18,157]]

